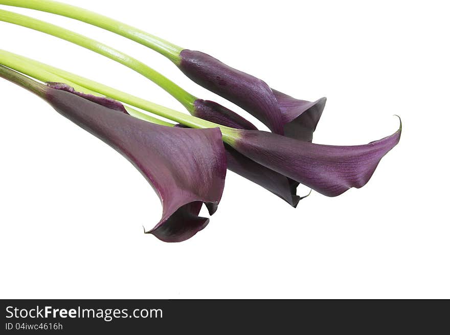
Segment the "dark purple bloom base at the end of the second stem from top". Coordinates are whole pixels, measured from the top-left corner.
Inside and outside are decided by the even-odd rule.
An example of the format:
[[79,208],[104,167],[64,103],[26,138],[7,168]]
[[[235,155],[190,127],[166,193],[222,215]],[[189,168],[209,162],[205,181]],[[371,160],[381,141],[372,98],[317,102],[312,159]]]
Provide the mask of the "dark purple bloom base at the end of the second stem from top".
[[258,130],[253,123],[247,121],[234,111],[214,101],[197,99],[194,101],[194,116],[210,122],[237,129]]

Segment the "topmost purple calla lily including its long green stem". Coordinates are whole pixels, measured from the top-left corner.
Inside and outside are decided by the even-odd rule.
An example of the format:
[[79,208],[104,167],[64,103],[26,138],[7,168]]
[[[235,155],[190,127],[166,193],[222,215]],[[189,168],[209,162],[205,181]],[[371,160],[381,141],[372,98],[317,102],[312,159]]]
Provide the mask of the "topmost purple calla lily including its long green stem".
[[[326,98],[314,102],[292,98],[273,90],[264,81],[233,69],[208,54],[181,48],[145,31],[86,9],[51,0],[0,0],[0,4],[70,17],[141,43],[169,58],[197,84],[234,102],[263,122],[271,131],[280,135],[311,141],[312,133],[325,107]],[[202,101],[199,100],[197,104],[201,105]],[[240,120],[236,120],[238,121]],[[241,128],[254,129],[244,125]]]

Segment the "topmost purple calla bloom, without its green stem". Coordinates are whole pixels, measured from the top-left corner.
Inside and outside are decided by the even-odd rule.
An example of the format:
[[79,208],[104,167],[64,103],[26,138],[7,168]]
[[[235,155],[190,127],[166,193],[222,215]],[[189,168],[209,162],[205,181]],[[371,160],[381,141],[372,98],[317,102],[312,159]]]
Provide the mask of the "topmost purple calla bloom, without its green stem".
[[[199,51],[183,50],[179,69],[197,84],[234,102],[271,131],[296,139],[312,139],[324,98],[297,100],[272,90],[264,81],[238,71]],[[301,117],[307,114],[306,117]]]

